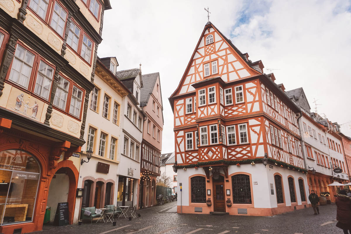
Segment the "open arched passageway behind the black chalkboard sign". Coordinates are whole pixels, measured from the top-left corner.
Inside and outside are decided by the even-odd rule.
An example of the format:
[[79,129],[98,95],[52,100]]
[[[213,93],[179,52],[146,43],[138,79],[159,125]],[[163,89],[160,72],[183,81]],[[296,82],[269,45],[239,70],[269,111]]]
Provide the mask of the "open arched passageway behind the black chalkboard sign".
[[69,177],[68,168],[61,167],[54,174],[49,186],[47,206],[51,207],[50,222],[54,222],[57,205],[60,202],[68,202]]

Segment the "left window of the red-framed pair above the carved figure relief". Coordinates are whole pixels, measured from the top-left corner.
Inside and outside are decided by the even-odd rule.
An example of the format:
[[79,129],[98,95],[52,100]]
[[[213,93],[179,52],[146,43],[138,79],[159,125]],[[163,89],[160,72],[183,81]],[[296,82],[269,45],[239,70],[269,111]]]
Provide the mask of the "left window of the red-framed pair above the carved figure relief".
[[29,78],[33,68],[34,55],[17,45],[9,80],[28,88]]

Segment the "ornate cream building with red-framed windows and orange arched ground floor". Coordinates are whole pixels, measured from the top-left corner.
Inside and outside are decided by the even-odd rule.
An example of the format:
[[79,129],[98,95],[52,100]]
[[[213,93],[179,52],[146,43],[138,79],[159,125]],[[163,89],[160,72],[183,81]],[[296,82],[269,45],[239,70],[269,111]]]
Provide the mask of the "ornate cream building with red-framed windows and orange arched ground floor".
[[41,230],[59,202],[73,223],[106,9],[108,0],[0,2],[1,233]]

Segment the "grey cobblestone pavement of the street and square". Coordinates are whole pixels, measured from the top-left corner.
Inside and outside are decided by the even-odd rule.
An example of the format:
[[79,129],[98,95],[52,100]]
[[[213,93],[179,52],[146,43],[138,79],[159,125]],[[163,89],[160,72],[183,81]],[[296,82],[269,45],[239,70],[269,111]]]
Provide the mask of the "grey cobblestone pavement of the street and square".
[[343,231],[336,225],[336,206],[320,206],[320,215],[312,208],[296,210],[273,217],[207,214],[177,214],[176,202],[140,210],[141,217],[129,221],[120,218],[112,223],[83,223],[63,227],[44,225],[33,234],[332,234]]

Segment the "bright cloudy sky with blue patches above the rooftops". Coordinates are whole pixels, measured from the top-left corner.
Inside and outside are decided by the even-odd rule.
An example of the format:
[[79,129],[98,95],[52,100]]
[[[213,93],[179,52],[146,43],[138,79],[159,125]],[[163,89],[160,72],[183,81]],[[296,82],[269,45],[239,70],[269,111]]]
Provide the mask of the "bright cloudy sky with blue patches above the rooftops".
[[303,87],[314,111],[351,136],[351,1],[110,0],[100,57],[116,56],[118,70],[159,72],[163,98],[162,153],[174,151],[174,92],[210,21],[252,61],[262,60],[286,90]]

